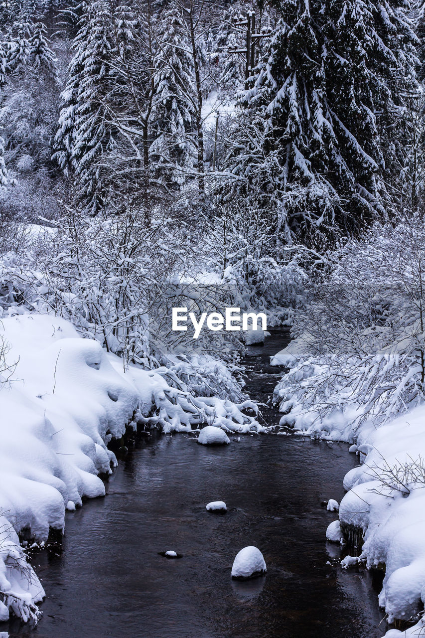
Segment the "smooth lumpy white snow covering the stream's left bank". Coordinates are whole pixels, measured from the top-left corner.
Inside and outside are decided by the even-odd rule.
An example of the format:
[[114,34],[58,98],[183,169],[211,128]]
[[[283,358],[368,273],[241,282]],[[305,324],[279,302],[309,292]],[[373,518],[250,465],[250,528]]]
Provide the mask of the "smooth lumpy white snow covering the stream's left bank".
[[112,437],[137,425],[169,432],[207,423],[223,436],[262,429],[241,412],[256,409],[250,401],[195,397],[183,383],[168,385],[167,369],[124,371],[53,315],[4,318],[0,351],[0,619],[9,610],[36,619],[44,595],[16,534],[46,540],[50,529],[63,531],[66,508],[105,494],[100,475],[117,463]]

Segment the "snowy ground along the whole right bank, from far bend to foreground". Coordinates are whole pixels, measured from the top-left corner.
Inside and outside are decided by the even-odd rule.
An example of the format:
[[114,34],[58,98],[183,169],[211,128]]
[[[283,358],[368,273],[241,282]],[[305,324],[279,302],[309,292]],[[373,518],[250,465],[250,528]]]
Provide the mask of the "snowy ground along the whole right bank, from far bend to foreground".
[[[272,364],[295,367],[302,359],[302,343],[292,342],[272,357]],[[311,373],[317,371],[311,367]],[[302,378],[299,379],[302,387]],[[274,399],[280,398],[281,383]],[[291,401],[291,400],[290,400]],[[281,403],[281,424],[290,424],[312,438],[352,443],[350,452],[359,456],[358,467],[344,479],[347,494],[339,505],[342,528],[354,526],[364,534],[360,557],[348,557],[343,567],[358,561],[385,569],[379,602],[387,620],[419,619],[425,603],[425,406],[419,406],[379,427],[373,420],[354,426],[353,415],[334,410],[331,417],[303,410],[292,397]],[[339,542],[338,523],[327,530],[329,540]],[[391,630],[387,637],[421,635],[422,621],[405,632]]]

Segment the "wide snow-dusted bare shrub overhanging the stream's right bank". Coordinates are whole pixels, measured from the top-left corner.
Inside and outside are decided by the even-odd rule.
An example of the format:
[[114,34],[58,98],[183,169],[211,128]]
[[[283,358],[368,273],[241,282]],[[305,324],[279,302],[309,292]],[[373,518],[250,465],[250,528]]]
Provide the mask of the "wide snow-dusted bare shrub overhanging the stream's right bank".
[[331,255],[331,274],[297,314],[292,369],[276,387],[282,424],[352,440],[424,400],[425,229],[375,226]]

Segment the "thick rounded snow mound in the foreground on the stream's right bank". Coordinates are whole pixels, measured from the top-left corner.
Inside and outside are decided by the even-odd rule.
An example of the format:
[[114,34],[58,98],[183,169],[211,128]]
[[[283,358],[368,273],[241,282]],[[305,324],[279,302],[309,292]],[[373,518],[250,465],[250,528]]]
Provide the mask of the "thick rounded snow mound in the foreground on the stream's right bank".
[[367,566],[385,568],[379,603],[389,623],[410,619],[425,602],[425,406],[366,424],[357,446],[362,464],[345,477],[339,519],[363,531]]

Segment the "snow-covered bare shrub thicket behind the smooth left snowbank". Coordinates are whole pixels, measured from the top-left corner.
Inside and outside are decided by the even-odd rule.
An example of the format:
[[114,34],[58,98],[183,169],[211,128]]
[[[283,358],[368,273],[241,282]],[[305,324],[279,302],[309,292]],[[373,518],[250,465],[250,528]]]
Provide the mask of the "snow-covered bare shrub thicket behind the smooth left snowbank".
[[68,211],[53,228],[23,228],[0,263],[6,314],[55,313],[125,366],[159,367],[168,383],[183,382],[200,396],[243,399],[232,376],[241,348],[234,333],[203,330],[195,340],[190,330],[172,332],[173,306],[198,316],[233,301],[228,285],[190,276],[200,250],[177,214],[156,211],[146,219],[145,209],[129,207],[103,219]]

